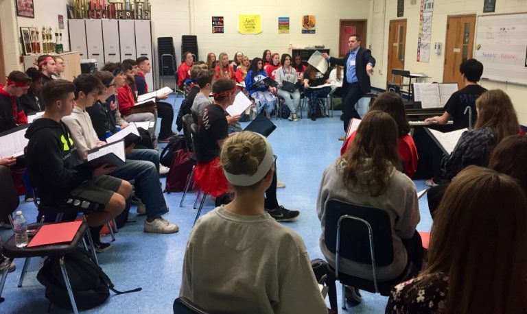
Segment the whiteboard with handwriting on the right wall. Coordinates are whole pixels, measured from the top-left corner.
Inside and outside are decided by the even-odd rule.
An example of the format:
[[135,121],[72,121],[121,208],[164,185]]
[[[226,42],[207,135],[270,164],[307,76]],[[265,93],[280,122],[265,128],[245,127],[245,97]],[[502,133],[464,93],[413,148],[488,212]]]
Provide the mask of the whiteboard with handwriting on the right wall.
[[478,16],[474,58],[483,79],[527,85],[527,13]]

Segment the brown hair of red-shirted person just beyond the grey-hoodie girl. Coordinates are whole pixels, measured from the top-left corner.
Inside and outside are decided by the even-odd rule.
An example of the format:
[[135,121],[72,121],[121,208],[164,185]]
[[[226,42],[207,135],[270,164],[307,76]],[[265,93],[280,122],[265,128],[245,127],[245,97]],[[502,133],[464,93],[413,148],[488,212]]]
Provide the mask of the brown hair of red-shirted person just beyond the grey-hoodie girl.
[[390,114],[397,123],[399,138],[410,133],[410,124],[406,118],[406,109],[404,108],[403,99],[396,93],[382,93],[373,101],[370,110],[381,110]]

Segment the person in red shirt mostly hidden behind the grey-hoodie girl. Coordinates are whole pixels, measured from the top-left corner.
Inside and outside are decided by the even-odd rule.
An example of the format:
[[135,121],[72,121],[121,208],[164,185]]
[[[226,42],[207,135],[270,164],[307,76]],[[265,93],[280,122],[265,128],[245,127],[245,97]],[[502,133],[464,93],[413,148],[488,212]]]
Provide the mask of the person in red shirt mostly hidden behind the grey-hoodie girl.
[[[403,159],[403,170],[406,176],[412,178],[415,171],[417,170],[417,148],[415,147],[414,140],[410,136],[410,125],[408,119],[406,119],[406,110],[404,109],[403,100],[395,93],[382,93],[375,99],[370,110],[384,111],[395,120],[397,123],[397,130],[399,130],[399,156]],[[344,141],[342,148],[340,149],[340,155],[347,151],[349,144],[355,138],[355,132],[351,133],[351,136]]]

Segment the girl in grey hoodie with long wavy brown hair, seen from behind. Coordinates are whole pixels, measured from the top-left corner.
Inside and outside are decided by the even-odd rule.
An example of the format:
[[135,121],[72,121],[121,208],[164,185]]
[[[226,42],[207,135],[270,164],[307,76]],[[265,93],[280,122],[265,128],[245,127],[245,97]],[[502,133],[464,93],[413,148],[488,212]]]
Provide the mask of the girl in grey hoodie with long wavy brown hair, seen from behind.
[[[325,245],[324,229],[327,202],[331,199],[386,210],[390,216],[393,241],[393,263],[377,267],[379,281],[400,276],[410,261],[421,268],[423,247],[415,230],[419,223],[419,202],[415,185],[405,176],[397,152],[397,123],[390,114],[370,111],[360,123],[347,152],[324,171],[316,212],[322,226],[320,250],[330,265],[335,265],[335,254]],[[343,241],[342,245],[346,245]],[[344,274],[372,280],[371,264],[340,258]],[[351,304],[361,301],[358,290],[350,288]]]

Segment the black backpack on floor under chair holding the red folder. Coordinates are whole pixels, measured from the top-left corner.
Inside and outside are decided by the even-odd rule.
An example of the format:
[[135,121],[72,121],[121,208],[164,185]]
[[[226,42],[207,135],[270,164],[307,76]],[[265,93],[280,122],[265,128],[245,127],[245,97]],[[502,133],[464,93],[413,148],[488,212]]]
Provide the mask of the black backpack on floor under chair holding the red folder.
[[[47,257],[36,279],[46,287],[45,296],[51,304],[56,304],[63,309],[71,309],[59,259],[58,256]],[[141,291],[141,288],[124,292],[115,290],[110,278],[93,261],[91,254],[82,247],[77,247],[75,251],[66,254],[64,261],[75,304],[79,310],[91,309],[104,303],[110,296],[109,290],[115,294]]]

